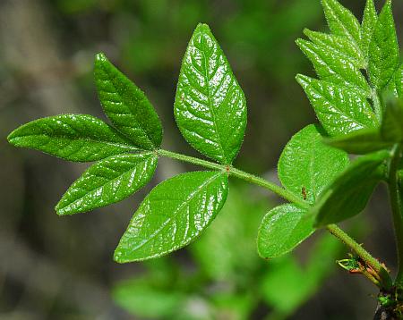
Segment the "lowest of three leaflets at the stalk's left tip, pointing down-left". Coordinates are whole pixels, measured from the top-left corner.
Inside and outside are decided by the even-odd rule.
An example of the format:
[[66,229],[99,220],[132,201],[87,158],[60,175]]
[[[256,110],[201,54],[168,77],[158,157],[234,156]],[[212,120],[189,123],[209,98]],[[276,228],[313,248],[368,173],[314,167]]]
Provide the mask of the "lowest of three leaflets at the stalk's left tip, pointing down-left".
[[110,156],[73,182],[56,206],[57,215],[73,215],[123,200],[152,178],[158,158],[153,153]]

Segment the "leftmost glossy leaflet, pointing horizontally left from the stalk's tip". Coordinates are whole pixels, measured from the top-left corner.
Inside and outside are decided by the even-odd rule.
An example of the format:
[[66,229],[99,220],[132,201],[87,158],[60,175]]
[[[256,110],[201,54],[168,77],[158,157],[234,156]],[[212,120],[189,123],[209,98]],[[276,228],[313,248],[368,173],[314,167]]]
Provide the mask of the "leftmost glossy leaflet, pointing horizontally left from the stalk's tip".
[[115,129],[88,114],[60,114],[28,122],[7,139],[16,147],[77,162],[96,161],[134,149]]

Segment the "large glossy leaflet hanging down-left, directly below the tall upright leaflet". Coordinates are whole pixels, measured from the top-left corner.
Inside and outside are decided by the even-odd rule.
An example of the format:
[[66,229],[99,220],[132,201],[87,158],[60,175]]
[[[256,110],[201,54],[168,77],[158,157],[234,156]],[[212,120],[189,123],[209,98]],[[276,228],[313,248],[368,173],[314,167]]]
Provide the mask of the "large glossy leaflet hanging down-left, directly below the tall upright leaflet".
[[196,238],[227,198],[226,173],[179,174],[144,198],[115,251],[118,263],[161,257]]

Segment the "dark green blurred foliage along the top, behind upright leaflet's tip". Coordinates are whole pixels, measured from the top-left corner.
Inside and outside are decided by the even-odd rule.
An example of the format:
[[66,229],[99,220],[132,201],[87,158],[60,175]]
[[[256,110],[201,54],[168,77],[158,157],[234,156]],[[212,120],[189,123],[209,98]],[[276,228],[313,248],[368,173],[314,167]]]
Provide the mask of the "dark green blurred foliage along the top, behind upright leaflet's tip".
[[114,38],[121,60],[137,75],[176,63],[184,47],[177,40],[189,38],[197,23],[206,22],[236,55],[238,68],[259,67],[259,73],[289,82],[287,75],[304,59],[296,55],[293,37],[322,17],[320,2],[312,0],[54,1],[65,14],[113,14],[116,27],[122,27]]

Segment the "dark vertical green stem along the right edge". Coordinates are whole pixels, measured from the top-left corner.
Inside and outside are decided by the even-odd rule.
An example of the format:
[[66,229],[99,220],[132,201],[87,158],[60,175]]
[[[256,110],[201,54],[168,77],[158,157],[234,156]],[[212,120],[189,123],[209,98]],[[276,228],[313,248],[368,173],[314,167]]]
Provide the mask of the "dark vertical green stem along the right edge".
[[396,248],[398,251],[398,275],[396,283],[399,287],[403,287],[403,213],[401,206],[400,190],[399,190],[399,162],[401,159],[401,149],[396,144],[391,150],[391,159],[389,165],[389,196],[390,206],[393,215],[393,226],[395,229]]

